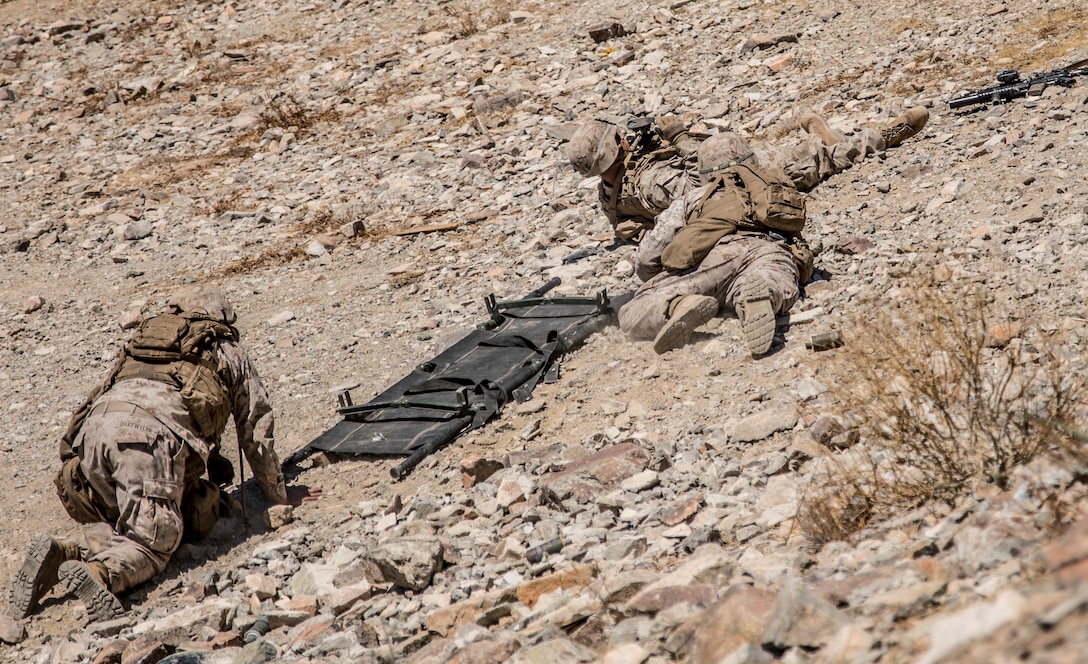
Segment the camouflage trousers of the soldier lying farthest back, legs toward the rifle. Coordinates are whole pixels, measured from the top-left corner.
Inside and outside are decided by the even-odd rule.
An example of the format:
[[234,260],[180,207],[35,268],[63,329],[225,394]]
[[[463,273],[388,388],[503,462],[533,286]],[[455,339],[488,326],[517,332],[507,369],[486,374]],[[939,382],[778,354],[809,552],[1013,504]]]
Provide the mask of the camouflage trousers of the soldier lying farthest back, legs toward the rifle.
[[815,136],[789,147],[772,146],[764,140],[750,145],[761,165],[781,168],[802,192],[885,149],[883,137],[871,127],[862,130],[855,136],[843,136],[831,146]]

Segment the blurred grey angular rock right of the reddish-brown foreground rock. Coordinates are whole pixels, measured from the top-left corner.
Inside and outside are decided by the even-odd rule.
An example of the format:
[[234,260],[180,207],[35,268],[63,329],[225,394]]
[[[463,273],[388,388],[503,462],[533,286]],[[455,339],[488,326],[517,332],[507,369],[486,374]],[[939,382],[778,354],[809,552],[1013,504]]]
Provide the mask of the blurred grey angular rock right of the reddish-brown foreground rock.
[[776,650],[820,648],[849,624],[846,614],[809,590],[803,581],[790,578],[775,598],[761,642]]

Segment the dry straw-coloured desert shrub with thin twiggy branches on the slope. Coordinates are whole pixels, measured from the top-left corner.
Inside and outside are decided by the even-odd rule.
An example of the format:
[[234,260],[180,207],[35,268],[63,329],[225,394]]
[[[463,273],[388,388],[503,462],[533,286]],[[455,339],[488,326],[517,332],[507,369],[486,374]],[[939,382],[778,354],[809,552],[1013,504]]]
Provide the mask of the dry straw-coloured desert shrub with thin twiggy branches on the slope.
[[1039,455],[1084,458],[1081,348],[981,291],[912,293],[898,309],[874,305],[836,352],[834,390],[861,443],[827,457],[802,500],[799,525],[817,542],[984,484],[1006,489]]

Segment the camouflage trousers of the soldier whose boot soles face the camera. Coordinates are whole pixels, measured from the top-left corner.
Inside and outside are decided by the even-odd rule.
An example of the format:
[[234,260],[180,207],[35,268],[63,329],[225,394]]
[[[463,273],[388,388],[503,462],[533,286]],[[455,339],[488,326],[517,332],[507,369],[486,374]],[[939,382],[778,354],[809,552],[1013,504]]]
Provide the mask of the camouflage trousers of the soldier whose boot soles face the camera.
[[619,310],[619,327],[631,341],[654,339],[668,319],[669,303],[681,295],[709,295],[719,307],[734,303],[752,275],[770,286],[776,313],[798,300],[798,267],[784,246],[752,235],[727,235],[697,267],[684,272],[662,272]]

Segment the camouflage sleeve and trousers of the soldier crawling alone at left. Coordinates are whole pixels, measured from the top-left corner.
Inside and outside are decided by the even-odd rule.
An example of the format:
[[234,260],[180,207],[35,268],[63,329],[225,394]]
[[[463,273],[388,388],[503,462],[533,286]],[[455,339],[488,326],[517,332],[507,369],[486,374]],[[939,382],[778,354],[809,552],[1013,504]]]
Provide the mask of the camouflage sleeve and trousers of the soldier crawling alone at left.
[[[221,341],[217,352],[230,377],[243,452],[264,496],[283,502],[268,393],[242,347]],[[199,435],[181,392],[165,382],[120,380],[95,402],[73,447],[87,481],[121,516],[112,531],[87,530],[82,557],[106,565],[110,590],[121,592],[165,568],[182,541],[182,491],[203,474],[215,445],[218,436]]]

